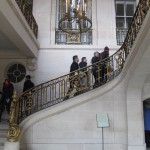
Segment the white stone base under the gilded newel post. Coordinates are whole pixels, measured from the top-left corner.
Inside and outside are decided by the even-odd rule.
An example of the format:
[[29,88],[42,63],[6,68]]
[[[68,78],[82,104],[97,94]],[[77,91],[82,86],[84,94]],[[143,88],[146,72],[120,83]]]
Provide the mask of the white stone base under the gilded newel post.
[[5,142],[4,150],[20,150],[19,142]]

